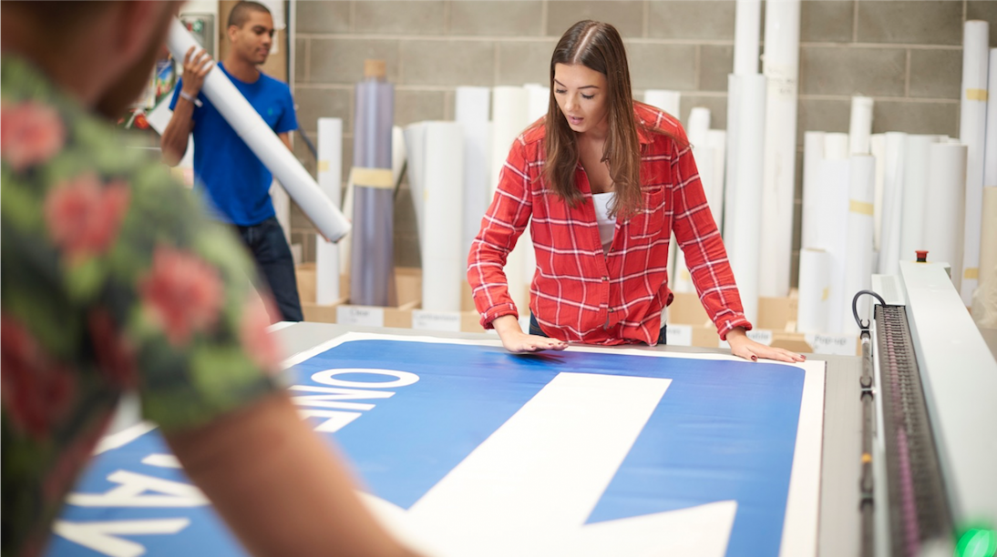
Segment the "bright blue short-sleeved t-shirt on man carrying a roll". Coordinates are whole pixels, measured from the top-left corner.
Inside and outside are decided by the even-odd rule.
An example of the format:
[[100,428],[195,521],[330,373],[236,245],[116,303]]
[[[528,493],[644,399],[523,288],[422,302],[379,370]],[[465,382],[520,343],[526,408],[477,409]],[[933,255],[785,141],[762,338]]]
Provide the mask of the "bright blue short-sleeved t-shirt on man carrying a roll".
[[[246,98],[252,108],[276,134],[298,129],[294,116],[294,102],[287,84],[264,74],[254,83],[244,83],[233,78],[218,63],[231,80],[235,89]],[[176,84],[169,109],[176,107],[183,81]],[[249,149],[235,130],[225,122],[203,92],[197,95],[200,107],[193,110],[193,171],[194,186],[206,191],[205,201],[224,221],[239,226],[251,226],[272,217],[270,184],[273,175]]]

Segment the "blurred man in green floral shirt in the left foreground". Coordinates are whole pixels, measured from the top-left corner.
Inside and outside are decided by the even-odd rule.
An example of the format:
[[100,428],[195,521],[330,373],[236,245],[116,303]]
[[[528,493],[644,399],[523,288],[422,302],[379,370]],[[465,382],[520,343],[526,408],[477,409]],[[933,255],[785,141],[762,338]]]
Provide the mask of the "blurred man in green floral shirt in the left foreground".
[[237,239],[105,120],[179,4],[0,3],[0,555],[42,553],[132,390],[253,553],[407,554],[277,387]]

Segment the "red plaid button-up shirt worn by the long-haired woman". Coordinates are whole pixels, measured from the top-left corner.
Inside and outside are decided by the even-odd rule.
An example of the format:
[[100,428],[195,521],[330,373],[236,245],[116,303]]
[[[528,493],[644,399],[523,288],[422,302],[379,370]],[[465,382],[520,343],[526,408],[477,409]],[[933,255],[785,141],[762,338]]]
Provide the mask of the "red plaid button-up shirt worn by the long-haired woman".
[[581,165],[575,179],[584,200],[572,208],[543,178],[543,126],[527,130],[512,143],[495,199],[468,257],[468,280],[484,327],[492,328],[492,321],[503,315],[518,317],[502,268],[529,223],[536,252],[529,309],[552,338],[654,345],[661,310],[673,298],[667,270],[672,231],[720,338],[726,339],[735,327],[751,329],[685,131],[653,107],[634,103],[634,113],[644,207],[630,218],[617,219],[608,254],[602,251]]

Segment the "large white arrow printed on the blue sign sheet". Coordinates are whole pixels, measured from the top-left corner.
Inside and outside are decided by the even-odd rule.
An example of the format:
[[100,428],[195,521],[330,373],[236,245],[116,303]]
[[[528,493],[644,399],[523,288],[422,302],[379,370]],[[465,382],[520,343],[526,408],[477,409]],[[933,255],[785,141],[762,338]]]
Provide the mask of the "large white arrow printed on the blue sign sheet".
[[408,511],[365,500],[431,555],[722,556],[735,501],[584,524],[670,383],[558,374]]

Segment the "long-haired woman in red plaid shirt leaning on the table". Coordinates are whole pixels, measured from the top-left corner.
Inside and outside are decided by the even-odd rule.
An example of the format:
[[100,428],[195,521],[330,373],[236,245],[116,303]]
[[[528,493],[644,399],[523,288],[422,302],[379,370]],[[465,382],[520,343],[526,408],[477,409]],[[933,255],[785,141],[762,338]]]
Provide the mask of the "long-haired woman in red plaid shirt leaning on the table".
[[[475,239],[468,280],[482,325],[509,352],[567,342],[664,342],[672,232],[721,339],[742,358],[802,362],[748,338],[727,252],[679,122],[632,100],[623,41],[581,21],[550,61],[547,115],[512,143]],[[529,334],[502,268],[526,225],[536,252]]]

